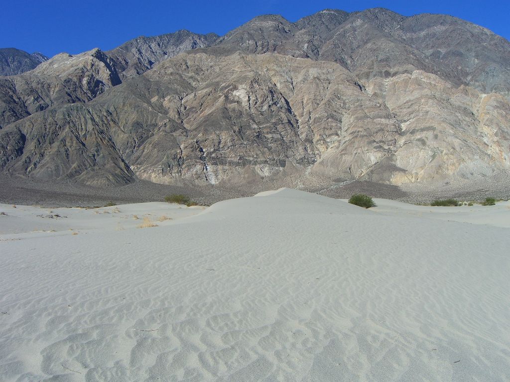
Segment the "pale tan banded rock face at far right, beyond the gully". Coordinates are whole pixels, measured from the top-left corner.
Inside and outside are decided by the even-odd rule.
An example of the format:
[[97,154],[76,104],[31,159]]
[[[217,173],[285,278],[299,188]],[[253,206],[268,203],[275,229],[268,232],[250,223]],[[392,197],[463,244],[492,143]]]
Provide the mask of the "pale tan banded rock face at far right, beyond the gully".
[[[502,95],[457,88],[422,71],[374,79],[367,90],[383,97],[401,121],[394,163],[406,171],[395,172],[390,178],[393,184],[508,171],[510,105]],[[484,106],[488,103],[493,105],[489,112]],[[498,139],[505,143],[497,144]]]

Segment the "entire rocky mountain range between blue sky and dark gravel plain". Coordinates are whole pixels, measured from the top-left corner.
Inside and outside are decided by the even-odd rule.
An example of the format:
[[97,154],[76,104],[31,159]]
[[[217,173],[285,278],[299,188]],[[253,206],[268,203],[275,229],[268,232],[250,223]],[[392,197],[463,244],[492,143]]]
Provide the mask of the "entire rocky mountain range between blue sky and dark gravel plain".
[[509,99],[510,43],[467,21],[267,15],[0,77],[0,171],[91,185],[497,181]]

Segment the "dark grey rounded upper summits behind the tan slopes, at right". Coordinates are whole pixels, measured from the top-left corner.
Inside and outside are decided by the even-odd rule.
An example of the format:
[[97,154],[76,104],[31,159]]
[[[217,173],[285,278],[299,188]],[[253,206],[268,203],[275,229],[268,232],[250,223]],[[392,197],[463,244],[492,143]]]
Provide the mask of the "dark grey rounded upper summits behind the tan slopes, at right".
[[510,43],[447,15],[405,17],[375,8],[324,10],[295,23],[256,17],[220,40],[229,52],[276,52],[334,61],[362,80],[423,70],[454,85],[510,95]]

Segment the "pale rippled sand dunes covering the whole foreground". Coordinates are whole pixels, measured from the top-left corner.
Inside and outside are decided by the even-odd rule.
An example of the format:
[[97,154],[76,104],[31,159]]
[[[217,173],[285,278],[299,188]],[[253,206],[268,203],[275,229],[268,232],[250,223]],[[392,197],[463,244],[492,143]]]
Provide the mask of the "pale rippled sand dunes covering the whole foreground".
[[508,381],[508,203],[376,202],[0,205],[0,380]]

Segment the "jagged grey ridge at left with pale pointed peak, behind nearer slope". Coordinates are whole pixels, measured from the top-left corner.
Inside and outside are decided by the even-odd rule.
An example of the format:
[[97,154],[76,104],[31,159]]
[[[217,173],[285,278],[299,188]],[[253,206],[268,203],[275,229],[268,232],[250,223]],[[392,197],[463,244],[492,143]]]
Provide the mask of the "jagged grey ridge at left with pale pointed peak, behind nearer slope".
[[0,128],[49,106],[90,101],[122,79],[217,38],[188,31],[139,37],[109,52],[60,53],[33,71],[0,77]]

